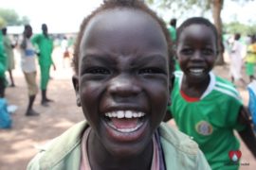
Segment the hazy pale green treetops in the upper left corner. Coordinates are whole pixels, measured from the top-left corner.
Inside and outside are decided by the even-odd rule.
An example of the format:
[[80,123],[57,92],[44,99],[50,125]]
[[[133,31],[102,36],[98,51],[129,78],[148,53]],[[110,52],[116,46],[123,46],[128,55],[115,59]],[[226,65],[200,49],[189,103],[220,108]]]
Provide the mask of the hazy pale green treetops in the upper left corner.
[[26,16],[20,18],[15,10],[9,8],[0,8],[0,17],[8,26],[20,26],[29,23],[29,20]]

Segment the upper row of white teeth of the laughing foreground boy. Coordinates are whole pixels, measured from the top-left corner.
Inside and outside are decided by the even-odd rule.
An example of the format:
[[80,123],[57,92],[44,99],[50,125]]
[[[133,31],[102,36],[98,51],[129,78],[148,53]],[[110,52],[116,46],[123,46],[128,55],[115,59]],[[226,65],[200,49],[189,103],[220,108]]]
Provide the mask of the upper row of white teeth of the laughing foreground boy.
[[144,116],[144,112],[140,111],[134,111],[134,110],[118,110],[118,111],[111,111],[105,113],[105,116],[107,117],[117,117],[119,119],[121,118],[133,118],[133,117],[142,117]]

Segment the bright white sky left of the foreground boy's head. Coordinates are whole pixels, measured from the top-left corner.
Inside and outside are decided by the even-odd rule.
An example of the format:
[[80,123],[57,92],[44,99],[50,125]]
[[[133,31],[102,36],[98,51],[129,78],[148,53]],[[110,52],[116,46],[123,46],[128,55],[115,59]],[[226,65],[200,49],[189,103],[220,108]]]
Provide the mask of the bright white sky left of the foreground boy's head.
[[78,31],[82,19],[102,0],[0,0],[0,8],[13,8],[18,15],[26,15],[34,32],[46,23],[49,32]]

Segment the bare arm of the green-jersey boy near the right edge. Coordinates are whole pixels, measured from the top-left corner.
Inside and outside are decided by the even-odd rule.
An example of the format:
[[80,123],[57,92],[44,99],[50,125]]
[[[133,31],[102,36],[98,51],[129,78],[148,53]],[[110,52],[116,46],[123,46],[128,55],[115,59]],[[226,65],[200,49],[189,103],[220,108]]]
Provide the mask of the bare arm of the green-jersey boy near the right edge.
[[247,148],[253,154],[254,158],[256,158],[256,137],[252,130],[251,116],[245,107],[241,107],[238,115],[238,122],[242,125],[246,125],[246,128],[238,133],[244,143],[247,145]]

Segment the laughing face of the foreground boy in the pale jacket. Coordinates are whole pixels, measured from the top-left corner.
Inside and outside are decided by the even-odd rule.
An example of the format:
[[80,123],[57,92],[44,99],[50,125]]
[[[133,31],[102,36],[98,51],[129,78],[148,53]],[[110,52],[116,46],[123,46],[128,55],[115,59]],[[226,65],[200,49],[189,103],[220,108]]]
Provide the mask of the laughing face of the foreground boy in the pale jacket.
[[97,140],[111,153],[145,149],[169,98],[168,49],[151,16],[132,9],[97,14],[84,30],[77,99]]

